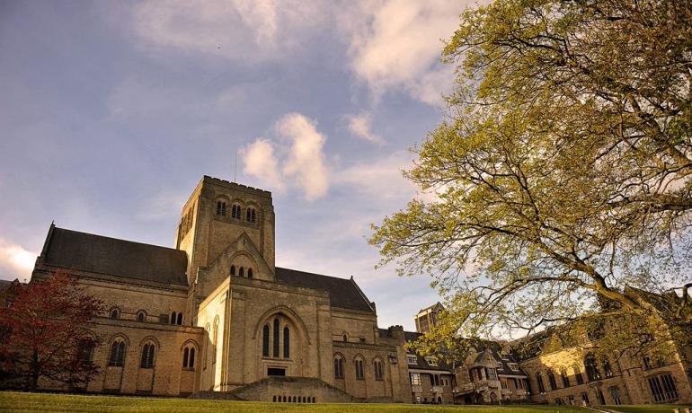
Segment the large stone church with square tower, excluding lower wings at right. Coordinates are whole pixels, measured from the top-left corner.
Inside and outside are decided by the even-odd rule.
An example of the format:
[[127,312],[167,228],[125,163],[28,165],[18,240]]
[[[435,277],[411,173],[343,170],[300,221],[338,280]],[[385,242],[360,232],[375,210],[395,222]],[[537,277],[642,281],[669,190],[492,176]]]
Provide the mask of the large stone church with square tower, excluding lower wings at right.
[[32,279],[67,269],[108,303],[87,391],[411,401],[404,330],[352,277],[277,267],[274,231],[270,192],[205,176],[173,248],[51,224]]

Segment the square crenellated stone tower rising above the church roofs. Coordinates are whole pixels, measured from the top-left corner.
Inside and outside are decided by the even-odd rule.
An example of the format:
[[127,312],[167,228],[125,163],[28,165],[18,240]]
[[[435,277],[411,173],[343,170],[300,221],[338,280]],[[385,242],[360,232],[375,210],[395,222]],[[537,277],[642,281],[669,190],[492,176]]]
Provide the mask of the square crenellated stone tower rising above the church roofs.
[[235,242],[247,244],[244,249],[259,255],[253,259],[263,261],[264,272],[271,273],[265,277],[273,277],[274,206],[271,192],[205,175],[183,206],[175,233],[175,248],[188,255],[188,283],[191,297],[197,303],[228,276],[206,270],[222,254],[233,250]]

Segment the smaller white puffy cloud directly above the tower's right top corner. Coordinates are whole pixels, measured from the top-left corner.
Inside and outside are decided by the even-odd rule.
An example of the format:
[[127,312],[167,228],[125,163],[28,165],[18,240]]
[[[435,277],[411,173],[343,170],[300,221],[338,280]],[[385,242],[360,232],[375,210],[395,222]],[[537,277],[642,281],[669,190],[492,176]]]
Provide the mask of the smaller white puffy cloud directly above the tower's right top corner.
[[274,145],[270,140],[258,137],[252,144],[241,148],[240,155],[245,174],[257,178],[267,188],[281,193],[286,191],[286,184],[279,174],[279,162],[274,155]]

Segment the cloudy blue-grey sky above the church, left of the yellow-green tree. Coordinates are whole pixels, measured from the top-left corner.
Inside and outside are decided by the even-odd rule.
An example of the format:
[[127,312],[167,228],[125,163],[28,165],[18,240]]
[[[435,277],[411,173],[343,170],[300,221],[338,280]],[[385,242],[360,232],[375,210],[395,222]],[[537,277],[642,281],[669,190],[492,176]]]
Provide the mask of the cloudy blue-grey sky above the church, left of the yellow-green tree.
[[203,175],[271,190],[276,261],[353,276],[414,330],[431,278],[368,245],[443,119],[472,1],[0,0],[0,278],[49,228],[173,246]]

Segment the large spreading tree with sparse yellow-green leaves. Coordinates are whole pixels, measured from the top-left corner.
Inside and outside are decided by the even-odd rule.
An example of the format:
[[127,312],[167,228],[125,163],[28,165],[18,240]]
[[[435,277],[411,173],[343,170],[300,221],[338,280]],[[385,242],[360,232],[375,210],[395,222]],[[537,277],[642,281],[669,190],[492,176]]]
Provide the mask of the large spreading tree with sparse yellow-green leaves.
[[448,117],[404,172],[435,199],[370,239],[446,297],[421,347],[606,318],[611,350],[691,342],[692,2],[496,1],[442,58]]

